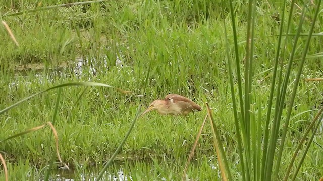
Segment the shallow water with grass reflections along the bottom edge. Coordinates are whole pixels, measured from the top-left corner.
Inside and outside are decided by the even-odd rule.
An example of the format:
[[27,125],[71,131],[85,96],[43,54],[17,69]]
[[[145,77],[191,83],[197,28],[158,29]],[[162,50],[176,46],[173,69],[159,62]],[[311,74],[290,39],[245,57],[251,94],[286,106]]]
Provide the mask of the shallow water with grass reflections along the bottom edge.
[[[159,160],[159,159],[158,159]],[[160,162],[159,162],[160,161]],[[175,172],[180,175],[182,173],[183,167],[173,167],[174,170],[168,170],[170,166],[170,162],[167,161],[166,163],[162,162],[162,159],[157,161],[159,162],[158,167],[155,167],[155,164],[153,160],[145,159],[145,160],[128,160],[127,163],[125,161],[114,161],[114,164],[110,166],[105,174],[103,174],[102,180],[121,180],[121,181],[127,181],[127,180],[138,180],[139,178],[146,178],[146,179],[152,179],[154,177],[154,180],[169,180],[170,177],[164,177],[165,173],[168,174],[169,171]],[[202,160],[192,160],[190,164],[192,164],[195,168],[198,168],[201,166],[201,164],[204,164]],[[183,161],[183,164],[185,164],[186,160]],[[166,165],[165,165],[166,164]],[[211,156],[210,159],[207,160],[207,164],[211,170],[217,170],[218,172],[218,178],[220,178],[220,172],[217,169],[218,163],[216,160],[214,160],[214,156]],[[165,168],[163,168],[165,167]],[[147,170],[146,170],[147,169]],[[160,170],[161,169],[161,170]],[[164,170],[165,169],[165,170]],[[82,171],[79,171],[82,170]],[[96,180],[96,176],[99,174],[99,171],[102,170],[102,167],[98,166],[88,166],[88,167],[80,167],[78,170],[73,167],[70,167],[70,170],[67,169],[56,169],[51,172],[50,179],[49,180],[55,180],[55,181],[65,181],[65,180]],[[131,172],[134,171],[134,172]],[[163,172],[161,174],[159,171]],[[156,173],[157,174],[154,174]],[[149,175],[146,175],[149,174]],[[164,175],[164,176],[161,176]],[[139,177],[138,177],[139,176]],[[195,177],[197,176],[197,177]],[[186,175],[186,180],[195,180],[198,179],[198,175],[195,175],[194,179],[190,178],[188,175]],[[43,175],[42,175],[43,177]],[[37,178],[37,176],[35,176]],[[44,180],[39,179],[39,180]]]

